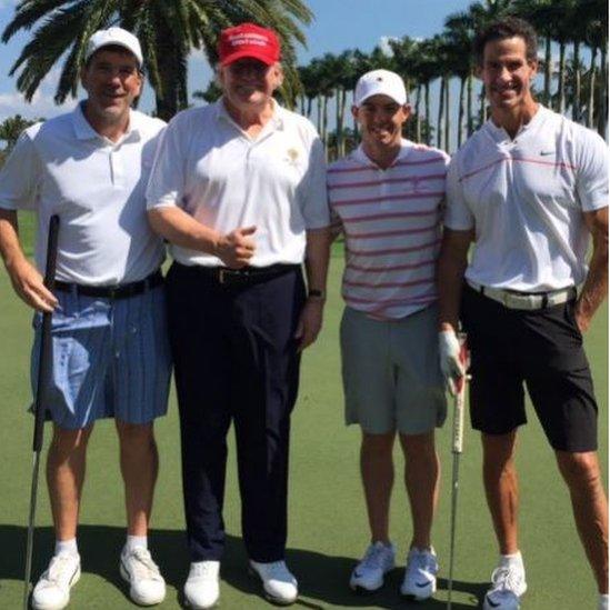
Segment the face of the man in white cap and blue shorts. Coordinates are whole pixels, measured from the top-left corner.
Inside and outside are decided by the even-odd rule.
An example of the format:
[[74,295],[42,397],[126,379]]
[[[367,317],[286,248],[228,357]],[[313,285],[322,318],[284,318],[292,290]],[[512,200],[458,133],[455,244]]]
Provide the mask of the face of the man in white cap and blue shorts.
[[82,69],[81,80],[89,94],[88,119],[100,124],[129,120],[129,109],[142,89],[138,60],[132,53],[100,49]]

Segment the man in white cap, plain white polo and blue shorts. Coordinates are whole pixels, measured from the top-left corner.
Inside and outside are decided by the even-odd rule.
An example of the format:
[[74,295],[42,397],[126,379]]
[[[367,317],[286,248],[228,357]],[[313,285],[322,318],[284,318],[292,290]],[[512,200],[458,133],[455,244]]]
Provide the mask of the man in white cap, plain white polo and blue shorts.
[[[140,604],[166,584],[147,544],[158,471],[153,420],[167,410],[171,371],[162,241],[150,230],[144,187],[164,123],[131,109],[142,87],[138,39],[96,32],[81,70],[88,97],[73,112],[26,130],[0,172],[0,252],[18,296],[53,311],[53,420],[47,480],[56,550],[32,607],[59,610],[80,577],[77,524],[86,451],[94,421],[112,417],[126,489],[127,542],[120,571]],[[38,214],[37,267],[21,248],[17,210]],[[47,228],[60,217],[56,293],[42,283]]]

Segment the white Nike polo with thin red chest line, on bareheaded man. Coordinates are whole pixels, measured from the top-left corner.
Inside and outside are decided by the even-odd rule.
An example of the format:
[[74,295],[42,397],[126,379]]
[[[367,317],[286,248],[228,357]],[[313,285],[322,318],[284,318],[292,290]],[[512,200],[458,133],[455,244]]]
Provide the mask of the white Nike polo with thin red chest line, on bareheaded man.
[[444,224],[476,229],[466,277],[524,292],[582,283],[582,213],[608,206],[608,160],[594,131],[542,106],[513,140],[489,120],[448,173]]

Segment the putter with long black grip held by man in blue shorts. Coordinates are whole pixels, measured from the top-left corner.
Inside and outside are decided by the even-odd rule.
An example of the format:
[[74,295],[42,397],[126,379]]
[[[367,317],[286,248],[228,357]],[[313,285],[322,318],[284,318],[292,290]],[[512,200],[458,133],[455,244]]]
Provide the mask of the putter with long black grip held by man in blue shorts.
[[[49,240],[47,243],[47,266],[44,269],[44,286],[53,290],[56,284],[57,237],[59,232],[59,216],[53,214],[49,221]],[[53,349],[51,343],[51,312],[42,314],[42,331],[40,334],[39,369],[34,401],[33,432],[33,466],[32,488],[30,492],[30,519],[28,521],[28,543],[26,548],[26,576],[23,582],[23,610],[28,609],[30,597],[30,579],[32,574],[33,532],[36,519],[36,499],[38,494],[38,471],[40,468],[40,451],[42,449],[42,432],[44,429],[44,404],[51,382]]]

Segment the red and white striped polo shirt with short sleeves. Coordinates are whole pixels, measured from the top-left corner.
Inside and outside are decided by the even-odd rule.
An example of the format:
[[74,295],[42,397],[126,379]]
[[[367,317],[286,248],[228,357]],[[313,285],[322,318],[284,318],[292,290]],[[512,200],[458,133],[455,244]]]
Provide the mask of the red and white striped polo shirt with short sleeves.
[[329,167],[330,208],[346,236],[342,293],[349,307],[399,319],[437,300],[448,163],[441,150],[402,140],[386,170],[362,147]]

